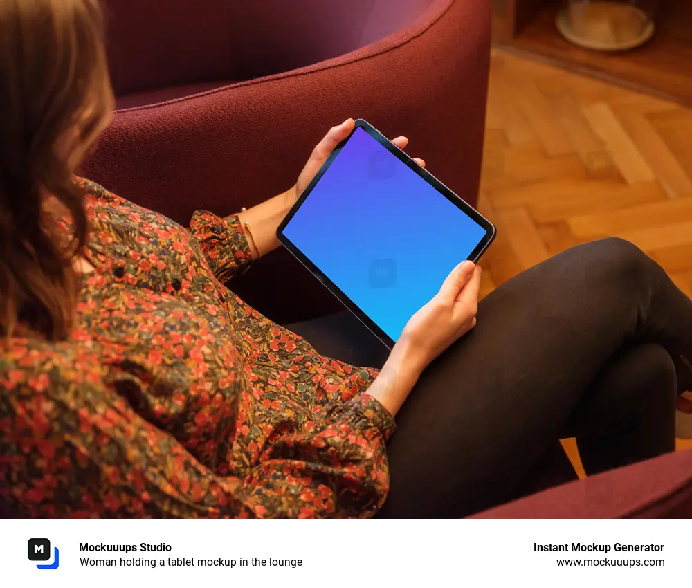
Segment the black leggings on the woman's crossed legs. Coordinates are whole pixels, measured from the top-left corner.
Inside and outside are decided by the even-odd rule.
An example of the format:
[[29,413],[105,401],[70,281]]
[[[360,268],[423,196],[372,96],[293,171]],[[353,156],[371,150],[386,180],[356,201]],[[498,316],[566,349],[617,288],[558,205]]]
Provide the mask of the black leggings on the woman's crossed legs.
[[[588,473],[675,449],[691,389],[692,302],[655,262],[604,239],[531,268],[480,302],[477,326],[421,376],[388,445],[388,517],[461,517],[507,502],[558,439]],[[349,313],[290,325],[320,353],[380,367]]]

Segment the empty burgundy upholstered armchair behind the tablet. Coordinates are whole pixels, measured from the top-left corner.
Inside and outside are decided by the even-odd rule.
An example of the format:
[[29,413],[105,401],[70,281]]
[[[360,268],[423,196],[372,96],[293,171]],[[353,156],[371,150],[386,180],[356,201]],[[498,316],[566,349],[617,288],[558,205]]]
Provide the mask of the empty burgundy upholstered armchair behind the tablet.
[[[329,127],[406,134],[475,203],[490,53],[486,0],[105,0],[113,123],[82,173],[187,223],[295,183]],[[298,284],[277,293],[278,284]],[[277,322],[340,309],[287,252],[233,289]]]

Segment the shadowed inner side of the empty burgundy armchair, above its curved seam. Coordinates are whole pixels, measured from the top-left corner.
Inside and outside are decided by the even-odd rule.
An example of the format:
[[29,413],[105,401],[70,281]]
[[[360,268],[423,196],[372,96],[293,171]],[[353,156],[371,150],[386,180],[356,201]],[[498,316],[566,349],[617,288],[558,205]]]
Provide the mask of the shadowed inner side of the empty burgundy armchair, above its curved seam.
[[280,73],[401,30],[434,0],[104,0],[116,95]]

